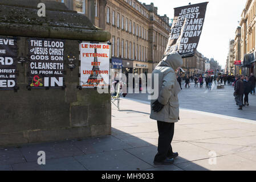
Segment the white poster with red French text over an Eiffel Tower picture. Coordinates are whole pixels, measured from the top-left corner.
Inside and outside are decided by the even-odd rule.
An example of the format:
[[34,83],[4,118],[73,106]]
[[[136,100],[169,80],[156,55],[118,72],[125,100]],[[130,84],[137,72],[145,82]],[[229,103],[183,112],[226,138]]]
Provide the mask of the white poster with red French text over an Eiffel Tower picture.
[[108,87],[110,46],[107,43],[80,44],[80,86]]

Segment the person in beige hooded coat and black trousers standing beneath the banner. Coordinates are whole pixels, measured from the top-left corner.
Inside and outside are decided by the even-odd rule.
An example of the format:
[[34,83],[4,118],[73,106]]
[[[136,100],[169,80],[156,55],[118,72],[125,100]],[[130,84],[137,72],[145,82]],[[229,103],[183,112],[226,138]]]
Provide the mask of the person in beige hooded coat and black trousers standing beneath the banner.
[[178,93],[180,86],[174,70],[181,67],[182,64],[182,57],[178,53],[172,53],[165,56],[152,72],[152,81],[155,74],[159,75],[159,97],[157,100],[151,100],[150,115],[151,119],[157,121],[159,131],[158,152],[154,159],[156,165],[172,164],[174,158],[178,156],[177,152],[173,152],[171,145],[174,123],[178,122],[179,118]]

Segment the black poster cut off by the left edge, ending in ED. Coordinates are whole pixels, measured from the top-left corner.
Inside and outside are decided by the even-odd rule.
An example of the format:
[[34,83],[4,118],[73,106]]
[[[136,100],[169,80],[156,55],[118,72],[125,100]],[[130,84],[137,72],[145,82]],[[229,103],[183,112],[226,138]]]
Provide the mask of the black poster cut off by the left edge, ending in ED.
[[17,86],[17,39],[0,37],[0,89],[13,90]]

